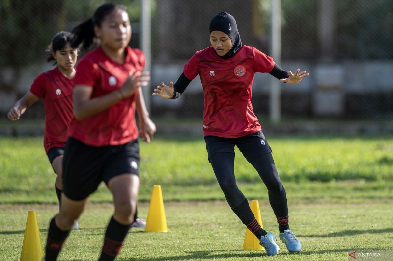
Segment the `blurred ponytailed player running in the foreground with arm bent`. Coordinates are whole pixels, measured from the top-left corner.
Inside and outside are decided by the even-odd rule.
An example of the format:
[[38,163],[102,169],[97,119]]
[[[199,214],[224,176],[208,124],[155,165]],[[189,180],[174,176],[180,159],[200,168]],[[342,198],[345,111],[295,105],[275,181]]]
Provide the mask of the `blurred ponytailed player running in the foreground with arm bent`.
[[[111,190],[114,214],[105,232],[100,261],[114,260],[134,221],[139,190],[138,129],[135,107],[146,124],[150,119],[139,88],[150,77],[141,73],[143,53],[131,49],[131,25],[122,5],[107,3],[73,30],[72,45],[100,46],[79,62],[74,79],[74,119],[69,127],[63,164],[60,212],[51,220],[45,260],[57,259],[70,228],[82,214],[88,196],[101,181]],[[154,124],[145,128],[150,140]]]

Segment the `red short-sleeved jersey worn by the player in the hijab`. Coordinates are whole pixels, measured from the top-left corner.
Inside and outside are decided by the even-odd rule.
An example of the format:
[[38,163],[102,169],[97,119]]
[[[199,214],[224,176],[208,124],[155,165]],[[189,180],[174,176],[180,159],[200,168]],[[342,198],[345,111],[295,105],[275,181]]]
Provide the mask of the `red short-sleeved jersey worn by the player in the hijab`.
[[202,82],[204,135],[237,138],[260,131],[251,88],[255,72],[270,72],[273,67],[273,58],[246,45],[229,59],[220,58],[213,47],[197,51],[183,73],[190,80],[199,74]]

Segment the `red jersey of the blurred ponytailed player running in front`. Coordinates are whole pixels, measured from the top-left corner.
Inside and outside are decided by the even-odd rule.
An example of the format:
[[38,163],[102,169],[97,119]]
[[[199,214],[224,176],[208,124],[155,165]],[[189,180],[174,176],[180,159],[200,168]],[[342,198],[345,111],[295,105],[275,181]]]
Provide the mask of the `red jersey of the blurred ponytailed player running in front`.
[[[74,85],[93,88],[91,99],[108,95],[120,89],[130,72],[143,70],[145,57],[139,49],[127,47],[123,64],[109,58],[101,47],[89,53],[77,65]],[[138,137],[135,122],[134,98],[138,89],[127,99],[86,119],[72,119],[69,134],[87,145],[100,147],[121,145]]]

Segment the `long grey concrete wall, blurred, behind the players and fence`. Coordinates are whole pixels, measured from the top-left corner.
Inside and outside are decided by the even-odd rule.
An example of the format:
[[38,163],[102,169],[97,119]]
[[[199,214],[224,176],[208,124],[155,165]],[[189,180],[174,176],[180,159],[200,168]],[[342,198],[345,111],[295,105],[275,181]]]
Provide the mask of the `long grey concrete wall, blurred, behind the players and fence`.
[[[173,64],[153,64],[151,90],[165,82],[176,82],[186,61]],[[393,61],[343,61],[341,63],[309,63],[284,61],[285,70],[306,70],[310,76],[297,85],[281,84],[283,114],[333,117],[373,117],[374,114],[393,117]],[[28,66],[21,71],[13,92],[0,91],[0,111],[6,112],[28,91],[35,77],[53,68],[49,63]],[[2,70],[0,80],[7,81],[12,71]],[[8,75],[8,76],[7,76]],[[257,73],[253,85],[253,106],[257,113],[267,113],[269,79],[267,73]],[[174,110],[170,110],[170,109]],[[203,93],[199,77],[188,86],[182,98],[165,100],[152,98],[155,115],[178,114],[199,116],[203,110]],[[368,114],[368,115],[367,115]],[[363,115],[363,116],[362,116]]]

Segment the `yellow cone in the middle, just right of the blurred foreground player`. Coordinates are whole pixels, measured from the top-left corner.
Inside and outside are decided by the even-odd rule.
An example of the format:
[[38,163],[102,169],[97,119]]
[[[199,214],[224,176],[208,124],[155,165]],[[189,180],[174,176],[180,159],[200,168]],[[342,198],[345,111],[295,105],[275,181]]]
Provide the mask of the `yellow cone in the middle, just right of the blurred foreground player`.
[[149,213],[147,214],[146,228],[149,232],[168,232],[165,218],[163,194],[160,185],[154,185],[151,193]]

